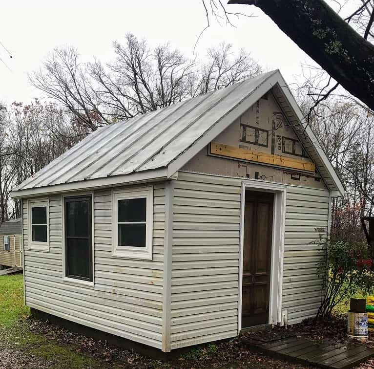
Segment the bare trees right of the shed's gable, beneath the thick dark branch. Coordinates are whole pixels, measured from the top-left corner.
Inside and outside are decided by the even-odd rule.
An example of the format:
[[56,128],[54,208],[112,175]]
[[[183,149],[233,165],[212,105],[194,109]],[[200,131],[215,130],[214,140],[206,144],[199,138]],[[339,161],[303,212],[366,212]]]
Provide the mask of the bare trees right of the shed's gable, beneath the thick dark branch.
[[[304,100],[306,112],[309,106]],[[374,211],[374,115],[344,96],[314,109],[312,130],[346,187],[332,203],[332,236],[356,241],[363,237],[360,216]]]

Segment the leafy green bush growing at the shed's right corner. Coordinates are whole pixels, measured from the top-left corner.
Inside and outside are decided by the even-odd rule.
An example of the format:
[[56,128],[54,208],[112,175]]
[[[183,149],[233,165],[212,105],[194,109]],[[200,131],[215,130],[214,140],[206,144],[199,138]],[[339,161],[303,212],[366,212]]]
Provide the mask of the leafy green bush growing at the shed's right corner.
[[335,241],[324,245],[325,253],[318,263],[318,276],[326,286],[317,318],[330,317],[332,309],[343,298],[357,292],[373,291],[372,259],[367,243]]

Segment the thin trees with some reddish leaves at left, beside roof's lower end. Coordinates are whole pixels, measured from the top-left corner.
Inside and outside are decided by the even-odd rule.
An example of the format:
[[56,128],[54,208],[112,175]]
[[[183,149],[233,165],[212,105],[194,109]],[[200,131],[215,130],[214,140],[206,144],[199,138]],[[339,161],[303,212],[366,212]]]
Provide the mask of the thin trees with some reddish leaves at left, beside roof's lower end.
[[88,134],[54,102],[0,108],[0,223],[20,216],[11,189]]

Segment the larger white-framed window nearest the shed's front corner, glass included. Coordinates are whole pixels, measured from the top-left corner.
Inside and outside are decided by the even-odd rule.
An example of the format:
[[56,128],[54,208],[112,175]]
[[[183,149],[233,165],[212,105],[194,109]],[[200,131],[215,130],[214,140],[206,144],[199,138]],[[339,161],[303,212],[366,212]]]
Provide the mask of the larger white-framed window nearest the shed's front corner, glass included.
[[152,259],[153,187],[113,191],[113,256]]

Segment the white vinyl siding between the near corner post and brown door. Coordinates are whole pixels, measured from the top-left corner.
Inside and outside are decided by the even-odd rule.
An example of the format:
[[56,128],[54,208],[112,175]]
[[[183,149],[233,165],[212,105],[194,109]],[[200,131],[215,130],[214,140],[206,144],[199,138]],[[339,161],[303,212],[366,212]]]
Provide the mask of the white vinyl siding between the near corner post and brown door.
[[240,180],[174,181],[171,348],[237,335]]

